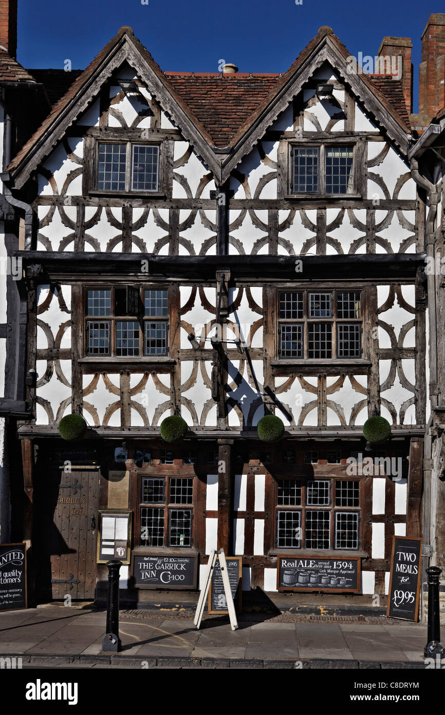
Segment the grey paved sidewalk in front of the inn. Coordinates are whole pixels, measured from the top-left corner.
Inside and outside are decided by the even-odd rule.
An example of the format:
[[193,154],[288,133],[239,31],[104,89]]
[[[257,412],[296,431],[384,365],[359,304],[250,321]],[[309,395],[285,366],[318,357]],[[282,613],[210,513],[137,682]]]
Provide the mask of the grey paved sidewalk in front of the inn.
[[0,657],[22,656],[28,667],[424,668],[426,628],[418,623],[282,623],[244,616],[236,631],[225,618],[208,618],[196,631],[186,618],[138,614],[121,613],[123,650],[109,656],[101,652],[105,611],[0,613]]

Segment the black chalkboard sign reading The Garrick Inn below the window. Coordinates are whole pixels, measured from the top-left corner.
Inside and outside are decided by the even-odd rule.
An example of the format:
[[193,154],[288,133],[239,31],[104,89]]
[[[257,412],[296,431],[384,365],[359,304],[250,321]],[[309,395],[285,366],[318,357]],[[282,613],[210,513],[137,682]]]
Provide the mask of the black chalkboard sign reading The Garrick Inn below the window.
[[133,553],[133,585],[138,588],[196,588],[197,556]]

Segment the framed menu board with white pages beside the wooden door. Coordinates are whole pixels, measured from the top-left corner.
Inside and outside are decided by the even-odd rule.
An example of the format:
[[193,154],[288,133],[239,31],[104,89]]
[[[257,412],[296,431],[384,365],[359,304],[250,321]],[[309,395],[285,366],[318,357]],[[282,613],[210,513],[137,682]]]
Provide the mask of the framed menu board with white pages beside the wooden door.
[[130,563],[131,511],[107,509],[99,511],[97,563],[118,559]]

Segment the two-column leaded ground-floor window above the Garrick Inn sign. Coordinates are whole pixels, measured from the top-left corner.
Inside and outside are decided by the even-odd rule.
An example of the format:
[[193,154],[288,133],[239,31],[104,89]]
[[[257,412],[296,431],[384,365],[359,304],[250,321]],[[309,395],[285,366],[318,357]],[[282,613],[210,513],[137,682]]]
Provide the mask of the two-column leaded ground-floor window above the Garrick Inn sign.
[[139,546],[192,546],[194,479],[141,477]]

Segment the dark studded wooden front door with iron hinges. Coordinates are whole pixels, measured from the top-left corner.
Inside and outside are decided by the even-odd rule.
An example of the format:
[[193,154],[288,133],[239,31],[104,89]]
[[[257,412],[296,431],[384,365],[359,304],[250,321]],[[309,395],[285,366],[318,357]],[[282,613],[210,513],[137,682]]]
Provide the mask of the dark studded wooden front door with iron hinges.
[[46,470],[36,483],[34,518],[39,598],[94,599],[99,497],[97,470]]

